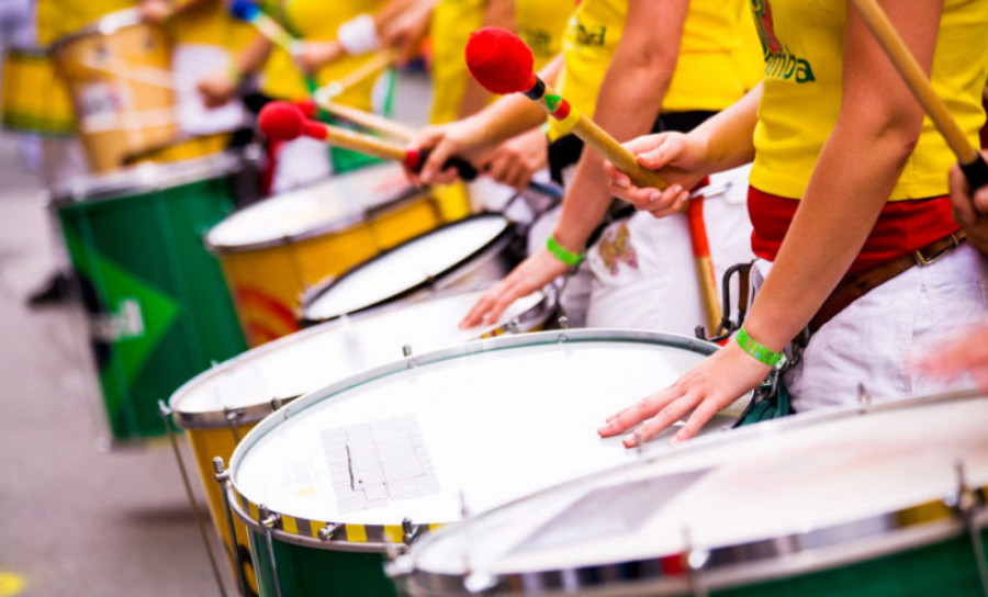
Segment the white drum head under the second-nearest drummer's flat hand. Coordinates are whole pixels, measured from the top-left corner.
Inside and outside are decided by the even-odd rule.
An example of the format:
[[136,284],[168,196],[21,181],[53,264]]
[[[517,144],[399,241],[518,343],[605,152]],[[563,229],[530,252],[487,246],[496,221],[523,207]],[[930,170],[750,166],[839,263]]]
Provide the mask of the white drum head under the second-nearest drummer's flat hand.
[[447,293],[396,304],[280,338],[195,376],[172,395],[171,409],[180,425],[194,426],[197,419],[212,420],[215,415],[222,423],[228,410],[301,396],[398,360],[405,346],[413,353],[427,352],[479,338],[513,320],[521,320],[518,330],[526,331],[541,324],[553,306],[551,297],[536,292],[512,305],[494,326],[460,329],[459,317],[483,292]]

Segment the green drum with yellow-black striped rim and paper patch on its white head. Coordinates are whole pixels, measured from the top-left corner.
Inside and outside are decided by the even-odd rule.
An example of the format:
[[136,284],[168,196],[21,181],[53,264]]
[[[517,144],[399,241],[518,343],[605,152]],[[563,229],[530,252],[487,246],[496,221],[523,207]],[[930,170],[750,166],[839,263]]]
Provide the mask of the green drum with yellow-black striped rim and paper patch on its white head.
[[[296,399],[231,459],[234,509],[248,527],[261,594],[394,595],[385,552],[465,509],[639,458],[594,430],[714,350],[605,329],[502,336]],[[739,412],[715,416],[704,431],[720,431]],[[666,450],[661,440],[643,448]]]

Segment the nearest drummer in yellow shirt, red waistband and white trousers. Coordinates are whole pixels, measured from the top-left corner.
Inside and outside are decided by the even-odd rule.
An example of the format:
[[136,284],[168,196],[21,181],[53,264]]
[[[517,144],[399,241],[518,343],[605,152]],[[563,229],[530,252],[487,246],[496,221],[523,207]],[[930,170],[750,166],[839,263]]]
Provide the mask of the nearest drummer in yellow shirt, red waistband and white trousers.
[[[883,4],[977,139],[988,4]],[[627,148],[682,187],[754,158],[749,210],[764,284],[737,341],[599,428],[610,437],[643,423],[628,447],[692,412],[672,441],[689,438],[760,384],[808,325],[816,331],[790,352],[798,358],[785,375],[797,410],[854,403],[862,393],[880,402],[941,392],[957,382],[931,379],[909,357],[984,317],[988,264],[951,217],[943,172],[953,156],[860,15],[819,0],[752,8],[763,85],[687,135],[641,137]],[[662,216],[683,207],[674,189],[637,188],[608,171],[611,192],[639,209]]]

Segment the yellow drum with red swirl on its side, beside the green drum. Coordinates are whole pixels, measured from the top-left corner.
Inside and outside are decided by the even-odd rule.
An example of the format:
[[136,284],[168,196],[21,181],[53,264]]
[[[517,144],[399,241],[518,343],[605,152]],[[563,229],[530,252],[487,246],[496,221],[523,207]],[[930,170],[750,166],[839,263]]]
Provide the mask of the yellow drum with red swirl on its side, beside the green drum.
[[299,297],[439,225],[433,198],[383,164],[238,210],[210,230],[250,346],[299,329]]

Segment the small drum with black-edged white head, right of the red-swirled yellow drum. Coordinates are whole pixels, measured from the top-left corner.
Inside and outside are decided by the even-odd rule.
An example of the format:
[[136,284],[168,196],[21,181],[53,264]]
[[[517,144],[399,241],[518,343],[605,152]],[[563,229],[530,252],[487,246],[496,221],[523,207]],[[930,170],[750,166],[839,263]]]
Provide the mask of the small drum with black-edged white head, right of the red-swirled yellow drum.
[[[437,290],[499,281],[519,261],[516,239],[514,227],[499,214],[446,224],[306,293],[302,323],[327,322]],[[467,315],[471,306],[459,315]]]

